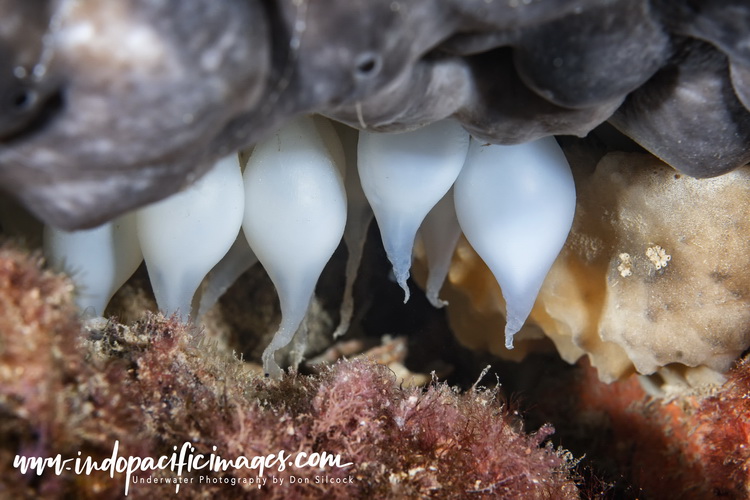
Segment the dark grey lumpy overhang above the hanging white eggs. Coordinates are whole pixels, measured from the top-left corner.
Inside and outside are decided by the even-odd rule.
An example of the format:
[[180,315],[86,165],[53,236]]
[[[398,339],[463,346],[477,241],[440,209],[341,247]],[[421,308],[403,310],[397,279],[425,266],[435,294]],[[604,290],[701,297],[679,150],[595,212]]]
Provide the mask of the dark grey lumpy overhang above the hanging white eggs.
[[[696,177],[750,161],[741,0],[0,2],[0,187],[92,227],[303,113],[515,144],[610,120]],[[743,24],[744,23],[744,24]]]

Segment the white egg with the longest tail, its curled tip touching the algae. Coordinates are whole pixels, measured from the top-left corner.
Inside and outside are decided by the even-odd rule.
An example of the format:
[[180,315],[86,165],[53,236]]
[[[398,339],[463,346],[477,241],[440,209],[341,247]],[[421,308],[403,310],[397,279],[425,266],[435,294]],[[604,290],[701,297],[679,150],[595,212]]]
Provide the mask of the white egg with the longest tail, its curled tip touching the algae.
[[263,352],[264,370],[274,377],[281,374],[274,354],[302,325],[344,233],[343,154],[335,138],[330,122],[301,117],[256,145],[245,167],[243,231],[281,305],[281,324]]

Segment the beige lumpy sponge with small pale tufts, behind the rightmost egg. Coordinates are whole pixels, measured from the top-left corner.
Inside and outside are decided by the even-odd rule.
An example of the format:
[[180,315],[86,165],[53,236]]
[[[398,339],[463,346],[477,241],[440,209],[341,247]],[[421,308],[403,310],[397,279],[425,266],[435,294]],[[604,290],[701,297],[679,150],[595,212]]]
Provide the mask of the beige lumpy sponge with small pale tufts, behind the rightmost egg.
[[[727,370],[750,346],[750,167],[693,179],[650,155],[609,153],[584,170],[530,323],[567,361],[588,355],[605,381],[667,365]],[[449,281],[459,338],[508,354],[500,289],[465,241]],[[526,327],[513,357],[538,333]]]

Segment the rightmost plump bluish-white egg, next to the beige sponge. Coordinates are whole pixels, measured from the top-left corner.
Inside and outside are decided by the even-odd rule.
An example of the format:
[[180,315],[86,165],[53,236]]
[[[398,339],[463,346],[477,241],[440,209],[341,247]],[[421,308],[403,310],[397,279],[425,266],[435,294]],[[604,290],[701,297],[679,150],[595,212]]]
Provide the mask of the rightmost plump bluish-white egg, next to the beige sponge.
[[554,137],[515,146],[472,139],[454,190],[461,229],[502,289],[512,349],[573,223],[570,166]]

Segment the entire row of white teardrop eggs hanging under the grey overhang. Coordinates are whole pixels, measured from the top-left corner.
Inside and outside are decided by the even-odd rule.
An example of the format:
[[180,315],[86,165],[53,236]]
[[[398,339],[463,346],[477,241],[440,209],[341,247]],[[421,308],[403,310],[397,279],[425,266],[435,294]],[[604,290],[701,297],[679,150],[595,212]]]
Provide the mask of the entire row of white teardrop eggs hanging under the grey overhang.
[[554,137],[499,146],[450,120],[382,134],[303,116],[166,200],[90,230],[45,228],[45,253],[71,273],[78,306],[94,316],[143,260],[160,310],[183,319],[199,318],[259,261],[281,306],[263,353],[266,373],[278,376],[274,353],[305,334],[316,283],[342,237],[349,261],[337,333],[348,328],[373,213],[404,301],[417,234],[427,296],[442,307],[438,291],[463,232],[502,289],[512,348],[574,211],[573,177]]

